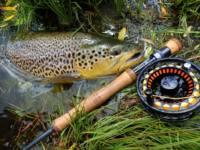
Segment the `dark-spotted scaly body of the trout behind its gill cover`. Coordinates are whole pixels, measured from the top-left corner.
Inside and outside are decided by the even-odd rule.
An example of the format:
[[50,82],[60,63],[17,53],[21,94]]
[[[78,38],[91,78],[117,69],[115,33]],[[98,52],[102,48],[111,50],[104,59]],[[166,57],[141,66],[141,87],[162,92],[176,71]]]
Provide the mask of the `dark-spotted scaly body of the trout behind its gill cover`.
[[38,77],[72,74],[76,72],[75,53],[84,44],[83,39],[83,35],[70,38],[70,33],[32,33],[8,44],[6,56],[22,70]]

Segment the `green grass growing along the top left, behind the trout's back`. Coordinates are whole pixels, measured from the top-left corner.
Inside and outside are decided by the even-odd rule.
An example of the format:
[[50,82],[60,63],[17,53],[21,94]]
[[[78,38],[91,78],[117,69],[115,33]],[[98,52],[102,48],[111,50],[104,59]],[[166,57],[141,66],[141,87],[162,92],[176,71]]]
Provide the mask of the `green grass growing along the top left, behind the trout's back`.
[[[117,13],[119,15],[121,14],[124,0],[105,2],[114,3]],[[15,17],[8,21],[2,20],[0,26],[9,28],[14,25],[18,26],[20,31],[33,29],[33,25],[37,26],[40,24],[45,24],[44,28],[51,26],[51,30],[58,29],[58,26],[63,25],[68,29],[71,27],[79,28],[84,24],[90,24],[92,26],[90,13],[94,12],[94,10],[98,12],[98,6],[101,3],[102,0],[10,0],[7,2],[8,6],[17,6],[17,12],[6,11],[4,18],[11,15],[15,15]],[[57,24],[54,22],[57,22]]]

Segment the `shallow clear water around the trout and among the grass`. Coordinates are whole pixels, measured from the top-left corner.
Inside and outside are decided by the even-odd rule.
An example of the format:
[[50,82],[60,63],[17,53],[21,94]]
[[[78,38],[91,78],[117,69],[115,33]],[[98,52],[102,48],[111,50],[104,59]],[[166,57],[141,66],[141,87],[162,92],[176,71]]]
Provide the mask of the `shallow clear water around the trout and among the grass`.
[[[147,2],[150,3],[151,1]],[[129,1],[128,4],[136,7],[133,1]],[[134,7],[129,7],[128,4],[126,9],[134,9]],[[106,9],[104,10],[106,13],[112,11]],[[152,5],[152,10],[146,10],[143,8],[142,12],[145,13],[145,11],[152,12],[158,10],[159,8],[157,5]],[[157,13],[159,14],[159,12]],[[112,15],[113,13],[110,14]],[[112,18],[112,16],[109,17]],[[96,20],[98,20],[98,18]],[[96,28],[98,30],[101,29],[100,31],[102,33],[115,37],[117,36],[121,27],[126,26],[128,28],[128,34],[126,37],[135,43],[139,43],[141,41],[140,38],[146,35],[139,33],[138,30],[149,30],[151,27],[148,19],[141,21],[138,20],[137,16],[127,16],[126,22],[119,21],[117,23],[110,23],[98,20],[96,23],[99,23],[99,26],[96,26]],[[162,24],[162,27],[168,26],[168,23]],[[160,29],[160,26],[155,26],[154,30],[156,29]],[[3,46],[3,43],[6,41],[6,39],[10,38],[10,36],[15,32],[16,31],[14,29],[9,29],[6,36],[1,34],[1,46]],[[146,49],[148,45],[149,44],[144,43],[144,49]],[[70,86],[57,85],[57,89],[54,89],[52,92],[54,84],[38,85],[34,81],[29,82],[27,80],[23,80],[23,78],[20,76],[12,74],[12,72],[6,69],[6,67],[4,68],[2,65],[3,63],[4,62],[1,60],[0,126],[3,130],[0,132],[0,149],[20,149],[31,142],[36,137],[36,135],[39,136],[44,132],[41,123],[36,121],[33,123],[33,125],[31,125],[30,128],[22,133],[18,139],[16,138],[22,122],[24,122],[23,127],[31,123],[31,121],[33,121],[34,118],[38,116],[37,110],[39,110],[40,113],[45,112],[42,117],[43,121],[47,122],[46,126],[49,128],[53,118],[59,116],[60,114],[66,113],[71,108],[73,108],[73,102],[79,103],[84,98],[116,78],[116,75],[114,75],[97,80],[81,81]],[[119,107],[118,104],[121,101],[120,98],[122,96],[123,94],[118,94],[106,104],[112,104],[111,107],[117,110]],[[107,115],[111,115],[109,112],[106,113]],[[29,118],[27,116],[27,118],[24,119],[24,115],[28,115]],[[48,138],[44,141],[44,143],[51,142]],[[34,149],[37,149],[37,147]]]

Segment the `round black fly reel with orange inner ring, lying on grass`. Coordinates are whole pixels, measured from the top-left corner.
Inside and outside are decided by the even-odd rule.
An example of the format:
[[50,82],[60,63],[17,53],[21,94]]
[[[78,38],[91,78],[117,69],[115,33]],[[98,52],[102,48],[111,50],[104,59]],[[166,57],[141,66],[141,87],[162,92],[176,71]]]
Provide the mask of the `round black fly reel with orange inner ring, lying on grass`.
[[195,114],[200,105],[199,85],[200,68],[181,58],[150,63],[136,83],[144,109],[164,121],[184,121]]

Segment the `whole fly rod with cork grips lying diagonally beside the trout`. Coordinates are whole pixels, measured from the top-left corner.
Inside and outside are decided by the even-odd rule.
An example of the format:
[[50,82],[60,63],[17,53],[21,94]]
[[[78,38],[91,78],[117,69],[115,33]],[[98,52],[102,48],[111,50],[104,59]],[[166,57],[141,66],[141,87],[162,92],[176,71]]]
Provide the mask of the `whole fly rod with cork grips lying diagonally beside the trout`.
[[170,39],[163,48],[161,48],[160,50],[156,50],[153,54],[151,54],[149,59],[147,59],[134,69],[129,68],[125,70],[110,84],[101,88],[97,92],[84,99],[80,104],[77,105],[76,109],[73,108],[68,113],[55,119],[53,121],[51,129],[49,129],[47,132],[45,132],[44,134],[36,138],[34,141],[26,145],[24,148],[22,148],[22,150],[28,150],[33,145],[35,145],[54,131],[63,131],[66,127],[70,125],[70,123],[72,122],[72,118],[77,119],[78,114],[83,115],[83,112],[88,113],[96,109],[97,107],[101,106],[107,99],[109,99],[111,96],[117,93],[119,90],[123,89],[131,83],[134,83],[137,79],[137,75],[147,64],[164,57],[169,57],[171,54],[178,52],[181,49],[182,44],[178,39]]

